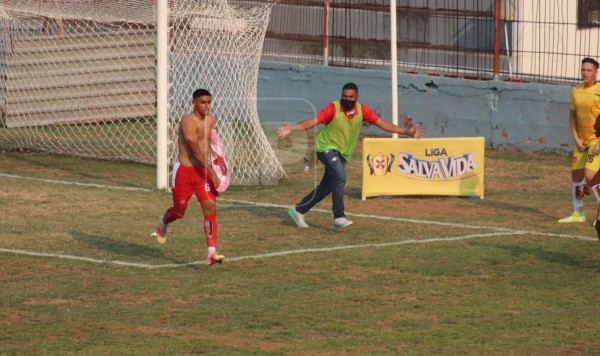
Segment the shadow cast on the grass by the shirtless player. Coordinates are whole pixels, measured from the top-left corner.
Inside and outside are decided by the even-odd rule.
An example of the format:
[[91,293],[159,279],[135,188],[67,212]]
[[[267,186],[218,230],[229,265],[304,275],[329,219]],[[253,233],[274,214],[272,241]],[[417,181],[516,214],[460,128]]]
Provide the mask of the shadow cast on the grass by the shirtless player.
[[[179,261],[166,256],[160,249],[113,240],[106,236],[90,235],[81,231],[71,231],[71,237],[86,245],[123,256],[161,258],[175,264],[187,263],[186,261]],[[198,268],[196,265],[187,265],[186,267],[194,269]]]

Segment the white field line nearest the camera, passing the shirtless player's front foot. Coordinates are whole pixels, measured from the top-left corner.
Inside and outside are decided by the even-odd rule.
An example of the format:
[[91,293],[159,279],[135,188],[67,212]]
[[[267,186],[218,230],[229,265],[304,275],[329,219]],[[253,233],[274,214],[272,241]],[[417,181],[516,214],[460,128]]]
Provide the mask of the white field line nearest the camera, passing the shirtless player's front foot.
[[[298,255],[298,254],[304,254],[304,253],[349,250],[349,249],[356,249],[356,248],[377,248],[377,247],[399,246],[399,245],[408,245],[408,244],[469,240],[469,239],[475,239],[478,237],[494,237],[494,236],[508,236],[508,235],[525,235],[525,234],[527,234],[527,233],[525,233],[525,232],[520,232],[520,233],[519,232],[494,232],[494,233],[488,233],[488,234],[471,234],[471,235],[462,235],[462,236],[454,236],[454,237],[446,237],[446,238],[431,238],[431,239],[423,239],[423,240],[403,240],[403,241],[395,241],[395,242],[382,242],[382,243],[371,243],[371,244],[362,244],[362,245],[342,245],[342,246],[321,247],[321,248],[305,248],[305,249],[298,249],[298,250],[287,250],[287,251],[262,253],[262,254],[258,254],[258,255],[232,257],[232,258],[226,258],[225,261],[233,262],[233,261],[243,261],[243,260],[251,260],[251,259],[265,259],[265,258],[287,256],[287,255]],[[162,264],[162,265],[152,265],[152,264],[148,264],[148,263],[135,263],[135,262],[126,262],[126,261],[117,261],[117,260],[102,260],[102,259],[75,256],[75,255],[33,252],[33,251],[14,250],[14,249],[6,249],[6,248],[0,248],[0,252],[10,253],[10,254],[15,254],[15,255],[34,256],[34,257],[53,257],[53,258],[60,258],[60,259],[67,259],[67,260],[90,262],[90,263],[96,263],[96,264],[109,264],[109,265],[136,267],[136,268],[143,268],[143,269],[177,268],[177,267],[185,267],[185,266],[192,266],[192,265],[205,265],[206,264],[206,261],[200,260],[200,261],[189,262],[189,263],[169,263],[169,264]]]

